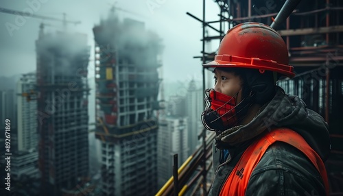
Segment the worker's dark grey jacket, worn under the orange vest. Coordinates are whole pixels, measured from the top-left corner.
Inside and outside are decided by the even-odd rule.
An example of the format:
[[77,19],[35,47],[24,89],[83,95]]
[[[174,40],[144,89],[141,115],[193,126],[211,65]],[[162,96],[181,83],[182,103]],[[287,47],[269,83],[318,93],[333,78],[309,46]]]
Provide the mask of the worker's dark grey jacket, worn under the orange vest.
[[[297,96],[276,95],[247,125],[233,127],[217,135],[213,143],[215,178],[209,195],[219,195],[226,178],[241,155],[259,134],[272,127],[289,127],[326,160],[330,152],[328,125],[316,112],[306,108]],[[229,155],[224,160],[224,149]],[[325,195],[320,173],[308,158],[287,143],[271,145],[252,171],[246,195]]]

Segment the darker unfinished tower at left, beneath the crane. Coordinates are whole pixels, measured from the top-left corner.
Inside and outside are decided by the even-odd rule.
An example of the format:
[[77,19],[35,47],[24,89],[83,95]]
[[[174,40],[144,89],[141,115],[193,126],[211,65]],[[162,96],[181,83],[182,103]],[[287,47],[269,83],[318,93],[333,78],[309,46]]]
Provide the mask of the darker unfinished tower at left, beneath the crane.
[[73,195],[88,176],[89,47],[84,34],[36,40],[39,168],[42,195]]

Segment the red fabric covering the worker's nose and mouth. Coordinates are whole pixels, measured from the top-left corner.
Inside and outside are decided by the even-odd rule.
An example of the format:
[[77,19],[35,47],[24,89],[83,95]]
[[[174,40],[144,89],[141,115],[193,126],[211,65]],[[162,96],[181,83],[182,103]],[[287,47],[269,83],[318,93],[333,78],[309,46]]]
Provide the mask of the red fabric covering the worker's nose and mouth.
[[[220,119],[222,119],[223,125],[234,127],[237,125],[237,115],[235,111],[236,101],[235,97],[230,97],[223,93],[218,93],[215,90],[211,90],[209,93],[211,99],[212,112],[217,112]],[[219,119],[215,120],[219,121]]]

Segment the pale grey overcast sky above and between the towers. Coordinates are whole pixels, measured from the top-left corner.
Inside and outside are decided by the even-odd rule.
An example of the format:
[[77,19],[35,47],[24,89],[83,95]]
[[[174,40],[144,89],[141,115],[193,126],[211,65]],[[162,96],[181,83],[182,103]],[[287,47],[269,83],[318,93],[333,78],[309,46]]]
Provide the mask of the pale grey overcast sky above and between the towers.
[[[31,3],[30,3],[31,2]],[[115,3],[117,2],[117,3]],[[1,0],[0,7],[12,10],[33,10],[34,14],[67,20],[81,21],[80,25],[68,25],[73,32],[87,34],[91,46],[91,57],[94,53],[94,36],[92,28],[100,19],[106,19],[110,7],[115,6],[130,12],[118,11],[121,18],[130,17],[145,22],[146,29],[156,32],[163,38],[163,78],[165,81],[185,81],[196,77],[201,79],[200,56],[202,50],[202,24],[186,14],[202,19],[202,1],[199,0]],[[135,13],[135,14],[131,14]],[[219,7],[212,0],[206,1],[206,20],[217,20]],[[36,70],[35,40],[38,38],[40,23],[47,23],[46,32],[61,29],[62,22],[27,18],[0,12],[0,76],[12,76]],[[13,29],[10,29],[12,27]],[[209,30],[210,35],[215,32]],[[214,42],[216,49],[219,42]],[[94,76],[94,62],[88,64],[89,75]]]

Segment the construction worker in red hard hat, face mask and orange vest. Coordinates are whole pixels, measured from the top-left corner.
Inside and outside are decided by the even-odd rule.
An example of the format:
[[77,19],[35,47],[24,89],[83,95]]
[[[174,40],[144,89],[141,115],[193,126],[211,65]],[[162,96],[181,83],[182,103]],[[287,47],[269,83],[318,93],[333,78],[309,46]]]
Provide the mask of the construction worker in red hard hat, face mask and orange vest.
[[329,195],[328,125],[276,86],[295,75],[283,38],[261,23],[236,25],[203,66],[215,79],[202,113],[216,134],[210,195]]

